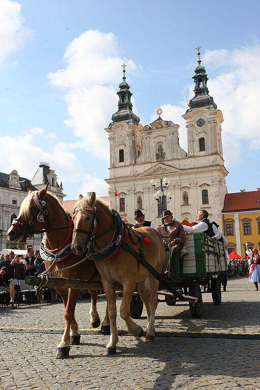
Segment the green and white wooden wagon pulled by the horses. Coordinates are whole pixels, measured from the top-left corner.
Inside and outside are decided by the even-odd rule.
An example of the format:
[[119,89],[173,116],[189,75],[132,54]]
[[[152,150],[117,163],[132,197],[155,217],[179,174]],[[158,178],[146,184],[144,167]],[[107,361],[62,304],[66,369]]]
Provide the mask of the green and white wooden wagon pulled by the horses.
[[[175,274],[161,274],[165,282],[173,289],[183,291],[184,296],[198,298],[198,301],[189,301],[189,308],[192,317],[200,318],[203,311],[202,293],[211,293],[215,305],[221,304],[221,278],[228,271],[225,248],[222,242],[212,240],[205,233],[194,233],[187,236],[185,255],[179,256],[179,262],[175,267]],[[169,262],[170,250],[166,251],[165,268]],[[171,260],[170,260],[171,262]],[[171,264],[169,269],[171,270]],[[182,301],[165,288],[165,283],[160,281],[158,296],[164,295],[165,299],[158,299],[159,302],[166,302],[169,306]],[[143,302],[138,296],[132,300],[131,315],[139,318],[142,315]]]

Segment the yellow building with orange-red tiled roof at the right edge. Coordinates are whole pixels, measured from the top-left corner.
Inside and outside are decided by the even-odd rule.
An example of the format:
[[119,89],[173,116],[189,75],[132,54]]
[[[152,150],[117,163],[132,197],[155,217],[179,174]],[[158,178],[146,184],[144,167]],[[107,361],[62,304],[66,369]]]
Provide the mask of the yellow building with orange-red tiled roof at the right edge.
[[235,250],[245,256],[245,243],[260,249],[260,188],[225,195],[222,210],[224,235],[229,241],[228,252]]

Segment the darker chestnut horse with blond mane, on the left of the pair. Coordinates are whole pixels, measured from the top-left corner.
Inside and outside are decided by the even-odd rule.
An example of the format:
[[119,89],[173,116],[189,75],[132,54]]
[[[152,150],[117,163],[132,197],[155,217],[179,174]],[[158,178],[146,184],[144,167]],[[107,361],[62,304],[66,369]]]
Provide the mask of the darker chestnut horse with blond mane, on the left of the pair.
[[[25,243],[28,236],[42,231],[46,232],[45,247],[49,248],[49,254],[55,254],[57,262],[45,262],[48,275],[66,277],[71,279],[92,279],[100,281],[100,275],[94,262],[84,261],[85,255],[75,255],[70,248],[73,223],[71,217],[64,211],[57,199],[47,192],[48,184],[40,191],[28,191],[23,200],[17,219],[7,232],[9,240]],[[67,251],[66,251],[66,248]],[[62,252],[64,253],[62,257]],[[54,256],[55,257],[55,256]],[[74,266],[82,260],[81,264]],[[55,264],[54,264],[55,263]],[[69,269],[65,269],[70,267]],[[60,270],[60,271],[59,271]],[[61,342],[57,346],[56,358],[62,359],[69,356],[71,344],[80,344],[78,324],[75,319],[75,306],[79,296],[79,290],[72,288],[56,288],[65,306],[65,327]],[[93,328],[100,326],[100,317],[96,310],[97,290],[89,290],[91,295],[90,321]],[[70,332],[71,331],[71,332]],[[109,331],[108,310],[102,321],[101,331]],[[71,336],[71,337],[70,337]]]

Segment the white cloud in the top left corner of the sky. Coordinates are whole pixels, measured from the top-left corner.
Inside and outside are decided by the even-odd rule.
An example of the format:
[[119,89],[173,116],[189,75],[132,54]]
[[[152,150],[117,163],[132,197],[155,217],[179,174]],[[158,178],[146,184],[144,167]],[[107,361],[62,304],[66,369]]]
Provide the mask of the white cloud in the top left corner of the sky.
[[33,31],[23,22],[19,3],[0,0],[0,67],[33,36]]

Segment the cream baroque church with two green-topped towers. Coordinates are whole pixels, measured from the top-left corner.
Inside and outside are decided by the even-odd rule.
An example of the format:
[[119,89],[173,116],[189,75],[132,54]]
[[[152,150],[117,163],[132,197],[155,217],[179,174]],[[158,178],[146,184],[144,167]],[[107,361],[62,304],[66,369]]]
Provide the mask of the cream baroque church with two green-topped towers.
[[[125,213],[129,223],[134,223],[136,209],[142,209],[147,220],[160,224],[163,210],[170,209],[179,221],[195,221],[198,209],[203,208],[222,228],[228,175],[222,154],[223,116],[209,95],[199,49],[198,56],[192,77],[194,96],[182,115],[187,128],[187,152],[179,145],[179,125],[161,118],[160,109],[156,120],[145,126],[140,124],[140,118],[132,111],[132,93],[123,66],[118,110],[106,128],[110,148],[106,182],[111,208],[122,217]],[[161,179],[169,184],[156,200],[154,193],[160,190]]]

